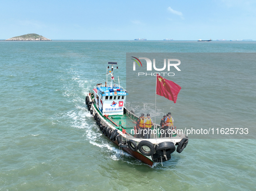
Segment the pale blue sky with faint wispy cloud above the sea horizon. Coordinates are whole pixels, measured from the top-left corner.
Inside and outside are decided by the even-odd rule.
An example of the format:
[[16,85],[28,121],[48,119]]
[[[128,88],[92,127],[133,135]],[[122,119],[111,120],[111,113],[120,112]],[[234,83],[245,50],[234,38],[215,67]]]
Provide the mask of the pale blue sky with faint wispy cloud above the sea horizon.
[[256,40],[256,0],[0,0],[0,39]]

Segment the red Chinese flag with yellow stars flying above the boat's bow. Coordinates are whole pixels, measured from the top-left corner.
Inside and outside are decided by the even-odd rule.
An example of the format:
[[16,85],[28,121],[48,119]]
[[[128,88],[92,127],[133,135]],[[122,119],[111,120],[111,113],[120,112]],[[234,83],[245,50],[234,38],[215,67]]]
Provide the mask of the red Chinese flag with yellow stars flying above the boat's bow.
[[181,87],[175,84],[171,80],[166,80],[162,76],[156,76],[156,94],[167,98],[168,100],[174,101],[176,103],[178,93]]

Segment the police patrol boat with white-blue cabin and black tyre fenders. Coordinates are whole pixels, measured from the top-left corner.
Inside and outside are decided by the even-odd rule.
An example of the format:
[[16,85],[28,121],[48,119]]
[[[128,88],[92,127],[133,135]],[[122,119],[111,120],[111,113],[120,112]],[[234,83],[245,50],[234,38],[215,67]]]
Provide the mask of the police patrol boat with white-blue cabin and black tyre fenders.
[[140,117],[125,107],[126,96],[129,94],[120,86],[119,76],[116,84],[113,75],[116,69],[117,62],[108,62],[106,82],[96,84],[85,98],[87,109],[98,126],[97,131],[101,131],[121,150],[149,166],[170,160],[175,150],[181,153],[188,144],[188,137],[181,132],[172,131],[162,136],[159,133],[160,125],[153,123],[151,130],[158,133],[151,131],[151,137],[141,137],[136,129]]

